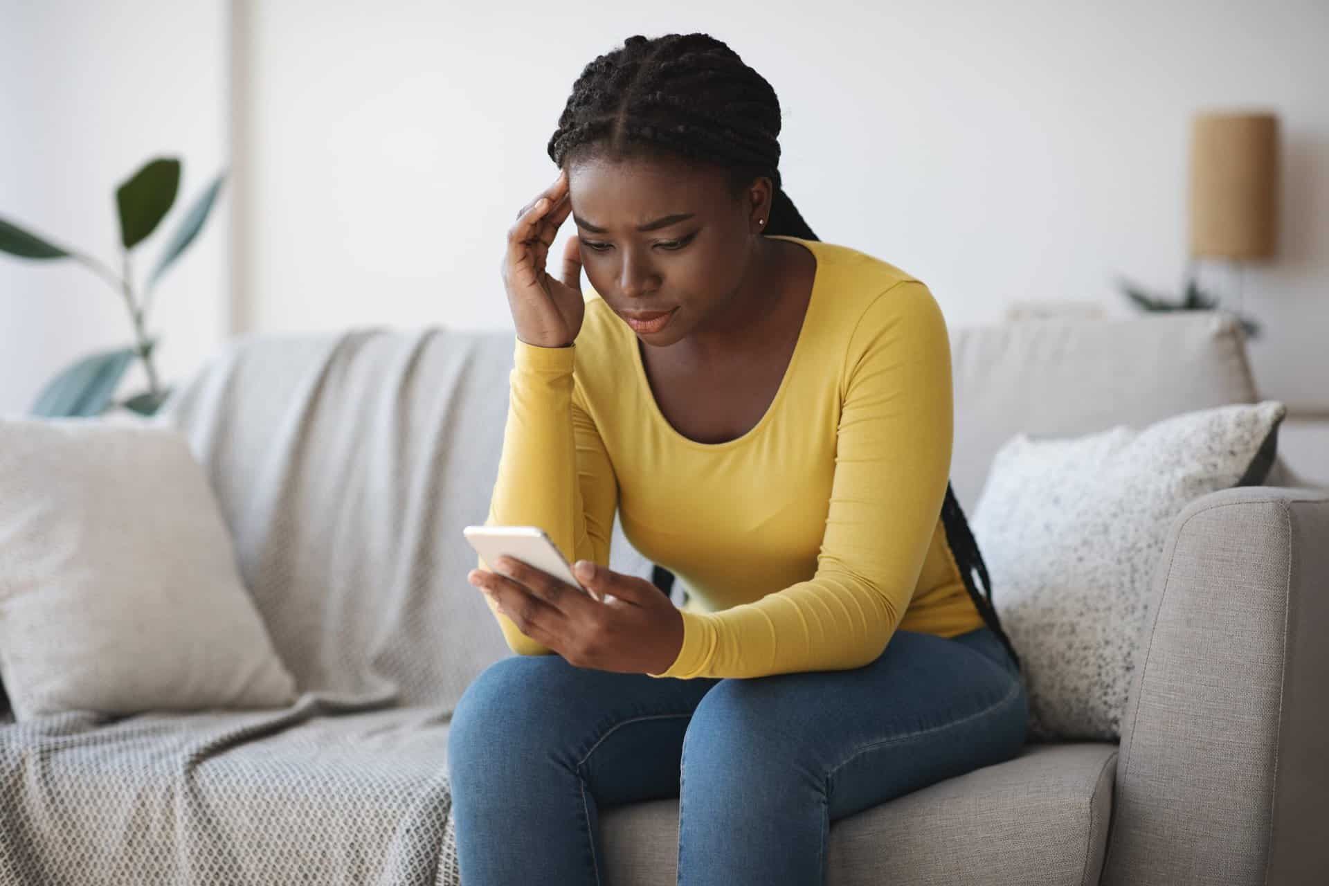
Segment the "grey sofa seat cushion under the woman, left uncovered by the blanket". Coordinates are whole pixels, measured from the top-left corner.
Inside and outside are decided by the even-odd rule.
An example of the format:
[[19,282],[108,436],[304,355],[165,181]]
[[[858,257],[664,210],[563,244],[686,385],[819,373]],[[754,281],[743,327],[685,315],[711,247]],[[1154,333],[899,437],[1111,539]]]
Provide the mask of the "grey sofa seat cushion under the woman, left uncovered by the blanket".
[[[1116,745],[1026,745],[831,825],[827,886],[1098,882]],[[602,809],[606,882],[672,886],[678,800]]]

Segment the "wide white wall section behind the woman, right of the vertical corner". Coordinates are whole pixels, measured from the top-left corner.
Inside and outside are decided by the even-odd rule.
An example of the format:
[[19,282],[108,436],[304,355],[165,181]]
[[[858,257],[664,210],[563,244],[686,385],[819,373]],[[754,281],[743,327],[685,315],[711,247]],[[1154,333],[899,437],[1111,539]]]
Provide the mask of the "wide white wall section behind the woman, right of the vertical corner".
[[1192,113],[1275,108],[1285,232],[1245,275],[1253,360],[1267,396],[1329,404],[1322,0],[242,5],[243,328],[510,328],[504,235],[554,175],[573,80],[633,33],[707,31],[780,96],[785,186],[821,239],[921,276],[952,323],[1017,299],[1124,315],[1119,272],[1175,290]]

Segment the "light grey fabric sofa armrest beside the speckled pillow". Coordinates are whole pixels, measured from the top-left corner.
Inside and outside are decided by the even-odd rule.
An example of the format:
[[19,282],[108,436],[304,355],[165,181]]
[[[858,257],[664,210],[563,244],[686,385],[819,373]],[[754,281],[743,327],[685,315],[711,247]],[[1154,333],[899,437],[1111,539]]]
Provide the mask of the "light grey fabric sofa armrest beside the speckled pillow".
[[1322,882],[1329,493],[1174,521],[1122,719],[1104,883]]

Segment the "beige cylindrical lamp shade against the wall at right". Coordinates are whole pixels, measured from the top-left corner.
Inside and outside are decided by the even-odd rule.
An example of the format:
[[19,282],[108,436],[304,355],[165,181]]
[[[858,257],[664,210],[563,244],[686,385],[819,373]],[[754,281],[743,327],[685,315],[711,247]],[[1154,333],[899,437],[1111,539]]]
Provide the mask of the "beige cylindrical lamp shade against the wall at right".
[[1191,130],[1191,255],[1272,258],[1278,222],[1278,118],[1197,114]]

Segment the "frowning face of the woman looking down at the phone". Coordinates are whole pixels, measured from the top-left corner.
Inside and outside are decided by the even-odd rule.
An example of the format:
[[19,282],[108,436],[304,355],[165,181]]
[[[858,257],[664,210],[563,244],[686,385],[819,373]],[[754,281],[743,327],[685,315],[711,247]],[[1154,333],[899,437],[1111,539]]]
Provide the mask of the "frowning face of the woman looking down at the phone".
[[769,217],[767,178],[735,201],[724,171],[708,165],[586,159],[569,166],[567,187],[595,291],[625,323],[634,313],[671,312],[659,329],[634,327],[646,344],[664,347],[704,329],[759,267],[762,238],[754,234],[758,219]]

